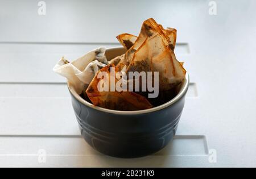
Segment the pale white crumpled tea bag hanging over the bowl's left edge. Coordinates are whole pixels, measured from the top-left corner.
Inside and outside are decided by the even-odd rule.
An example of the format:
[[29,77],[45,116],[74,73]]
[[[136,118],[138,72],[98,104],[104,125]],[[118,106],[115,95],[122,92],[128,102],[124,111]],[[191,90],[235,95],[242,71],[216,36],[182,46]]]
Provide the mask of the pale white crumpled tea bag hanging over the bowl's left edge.
[[67,78],[74,85],[77,93],[81,94],[98,70],[108,64],[105,51],[105,47],[94,49],[72,63],[62,57],[53,71]]

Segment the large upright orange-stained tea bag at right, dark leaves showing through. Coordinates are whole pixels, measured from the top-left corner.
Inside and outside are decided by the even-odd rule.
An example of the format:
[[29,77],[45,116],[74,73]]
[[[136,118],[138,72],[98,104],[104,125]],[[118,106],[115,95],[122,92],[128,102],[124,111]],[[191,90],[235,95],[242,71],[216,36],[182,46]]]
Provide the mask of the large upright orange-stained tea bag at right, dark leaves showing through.
[[134,53],[127,72],[159,72],[159,90],[165,91],[181,83],[185,70],[167,44],[166,36],[160,28],[157,31],[158,35],[148,37]]

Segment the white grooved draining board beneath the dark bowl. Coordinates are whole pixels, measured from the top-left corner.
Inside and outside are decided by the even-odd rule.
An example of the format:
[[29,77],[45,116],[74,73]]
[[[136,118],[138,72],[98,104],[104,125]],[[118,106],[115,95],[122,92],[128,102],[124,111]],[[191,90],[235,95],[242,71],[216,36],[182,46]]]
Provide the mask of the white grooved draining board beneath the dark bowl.
[[[256,166],[254,1],[0,0],[0,166]],[[117,159],[80,137],[61,56],[114,47],[153,17],[177,28],[191,78],[177,136],[162,151]],[[45,157],[45,158],[44,158]],[[45,160],[44,160],[45,159]]]

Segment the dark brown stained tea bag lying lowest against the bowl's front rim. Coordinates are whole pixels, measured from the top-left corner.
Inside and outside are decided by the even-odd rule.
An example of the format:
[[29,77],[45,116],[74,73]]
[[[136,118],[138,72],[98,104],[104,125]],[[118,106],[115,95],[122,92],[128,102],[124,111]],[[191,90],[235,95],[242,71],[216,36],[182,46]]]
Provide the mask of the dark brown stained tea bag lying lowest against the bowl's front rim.
[[[97,74],[86,90],[86,94],[93,105],[123,111],[150,109],[152,107],[151,103],[142,95],[130,91],[110,90],[111,67],[114,67],[114,65],[112,64],[102,68],[98,73],[106,72],[108,75],[98,78]],[[115,72],[117,72],[116,68]],[[114,82],[115,84],[117,83],[115,77]],[[99,88],[101,90],[98,90],[98,84],[100,84]],[[107,90],[102,89],[105,88],[105,85],[108,85]]]

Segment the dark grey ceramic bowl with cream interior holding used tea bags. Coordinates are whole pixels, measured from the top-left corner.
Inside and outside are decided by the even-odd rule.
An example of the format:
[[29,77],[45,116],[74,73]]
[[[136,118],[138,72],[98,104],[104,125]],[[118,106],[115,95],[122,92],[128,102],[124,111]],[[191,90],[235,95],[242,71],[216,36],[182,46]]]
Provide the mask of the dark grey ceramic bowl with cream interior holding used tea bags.
[[[108,59],[121,55],[123,48],[109,48]],[[97,151],[114,157],[141,157],[164,148],[174,138],[188,90],[189,77],[179,93],[163,105],[139,111],[117,111],[94,106],[76,93],[68,82],[81,134]]]

